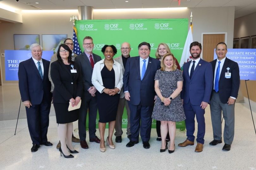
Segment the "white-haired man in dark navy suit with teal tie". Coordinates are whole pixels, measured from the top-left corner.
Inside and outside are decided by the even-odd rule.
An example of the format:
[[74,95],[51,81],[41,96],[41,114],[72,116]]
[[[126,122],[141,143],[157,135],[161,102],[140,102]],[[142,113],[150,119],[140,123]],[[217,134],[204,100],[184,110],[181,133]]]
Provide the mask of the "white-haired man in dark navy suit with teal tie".
[[40,144],[52,146],[52,143],[47,141],[52,93],[48,78],[50,62],[41,58],[42,47],[39,44],[32,44],[30,50],[32,57],[19,64],[18,77],[33,143],[31,152],[36,152]]

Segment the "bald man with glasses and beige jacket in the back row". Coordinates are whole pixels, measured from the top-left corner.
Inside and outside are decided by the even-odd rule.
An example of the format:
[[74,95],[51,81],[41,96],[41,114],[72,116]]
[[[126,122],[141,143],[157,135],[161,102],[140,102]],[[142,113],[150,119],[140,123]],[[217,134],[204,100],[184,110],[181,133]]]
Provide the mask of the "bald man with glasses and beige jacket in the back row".
[[[130,51],[131,51],[131,45],[129,43],[122,43],[121,45],[121,53],[122,55],[118,58],[115,58],[117,62],[119,62],[123,67],[123,74],[125,72],[125,65],[127,62],[127,59],[130,58]],[[116,115],[116,124],[115,124],[115,136],[116,136],[116,142],[121,143],[122,142],[122,116],[124,113],[124,108],[127,110],[127,137],[128,139],[131,139],[131,132],[130,132],[130,108],[128,105],[128,101],[125,99],[125,93],[123,91],[123,88],[120,90],[120,99],[119,104],[117,108],[117,115]]]

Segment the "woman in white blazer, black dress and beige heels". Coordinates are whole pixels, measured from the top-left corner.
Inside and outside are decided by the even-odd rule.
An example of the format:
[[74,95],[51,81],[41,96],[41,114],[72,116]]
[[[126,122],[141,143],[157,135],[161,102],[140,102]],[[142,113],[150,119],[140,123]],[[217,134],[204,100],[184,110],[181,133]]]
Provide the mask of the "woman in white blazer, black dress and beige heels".
[[97,105],[99,110],[99,131],[101,135],[100,150],[106,151],[104,133],[108,122],[108,137],[106,144],[115,149],[112,141],[114,132],[117,107],[120,98],[120,90],[123,87],[122,66],[113,60],[117,49],[113,45],[105,45],[101,52],[105,59],[94,65],[92,73],[92,84],[97,89]]

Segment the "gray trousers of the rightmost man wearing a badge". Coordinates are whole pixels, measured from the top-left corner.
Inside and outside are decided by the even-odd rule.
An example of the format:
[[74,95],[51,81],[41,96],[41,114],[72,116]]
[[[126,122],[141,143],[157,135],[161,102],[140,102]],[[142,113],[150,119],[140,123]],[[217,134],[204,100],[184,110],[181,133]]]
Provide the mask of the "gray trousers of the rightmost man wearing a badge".
[[224,143],[232,144],[234,139],[234,129],[235,129],[235,104],[228,105],[223,104],[220,101],[219,93],[213,92],[210,101],[210,111],[211,111],[211,123],[213,130],[213,139],[222,140],[222,127],[221,127],[221,111],[225,120],[224,126]]

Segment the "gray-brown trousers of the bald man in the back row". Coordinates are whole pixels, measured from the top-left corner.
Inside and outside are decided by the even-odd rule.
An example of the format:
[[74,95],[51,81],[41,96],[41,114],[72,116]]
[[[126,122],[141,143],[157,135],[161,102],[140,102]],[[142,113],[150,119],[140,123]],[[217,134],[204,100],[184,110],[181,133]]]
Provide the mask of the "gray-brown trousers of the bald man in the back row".
[[123,131],[122,131],[122,116],[124,113],[124,108],[126,108],[127,110],[127,135],[131,134],[130,128],[131,128],[131,124],[130,124],[130,108],[128,105],[128,101],[126,101],[125,98],[120,98],[119,99],[119,104],[118,104],[118,108],[117,108],[117,114],[116,114],[116,124],[115,124],[115,130],[116,132],[114,133],[115,136],[122,136]]

